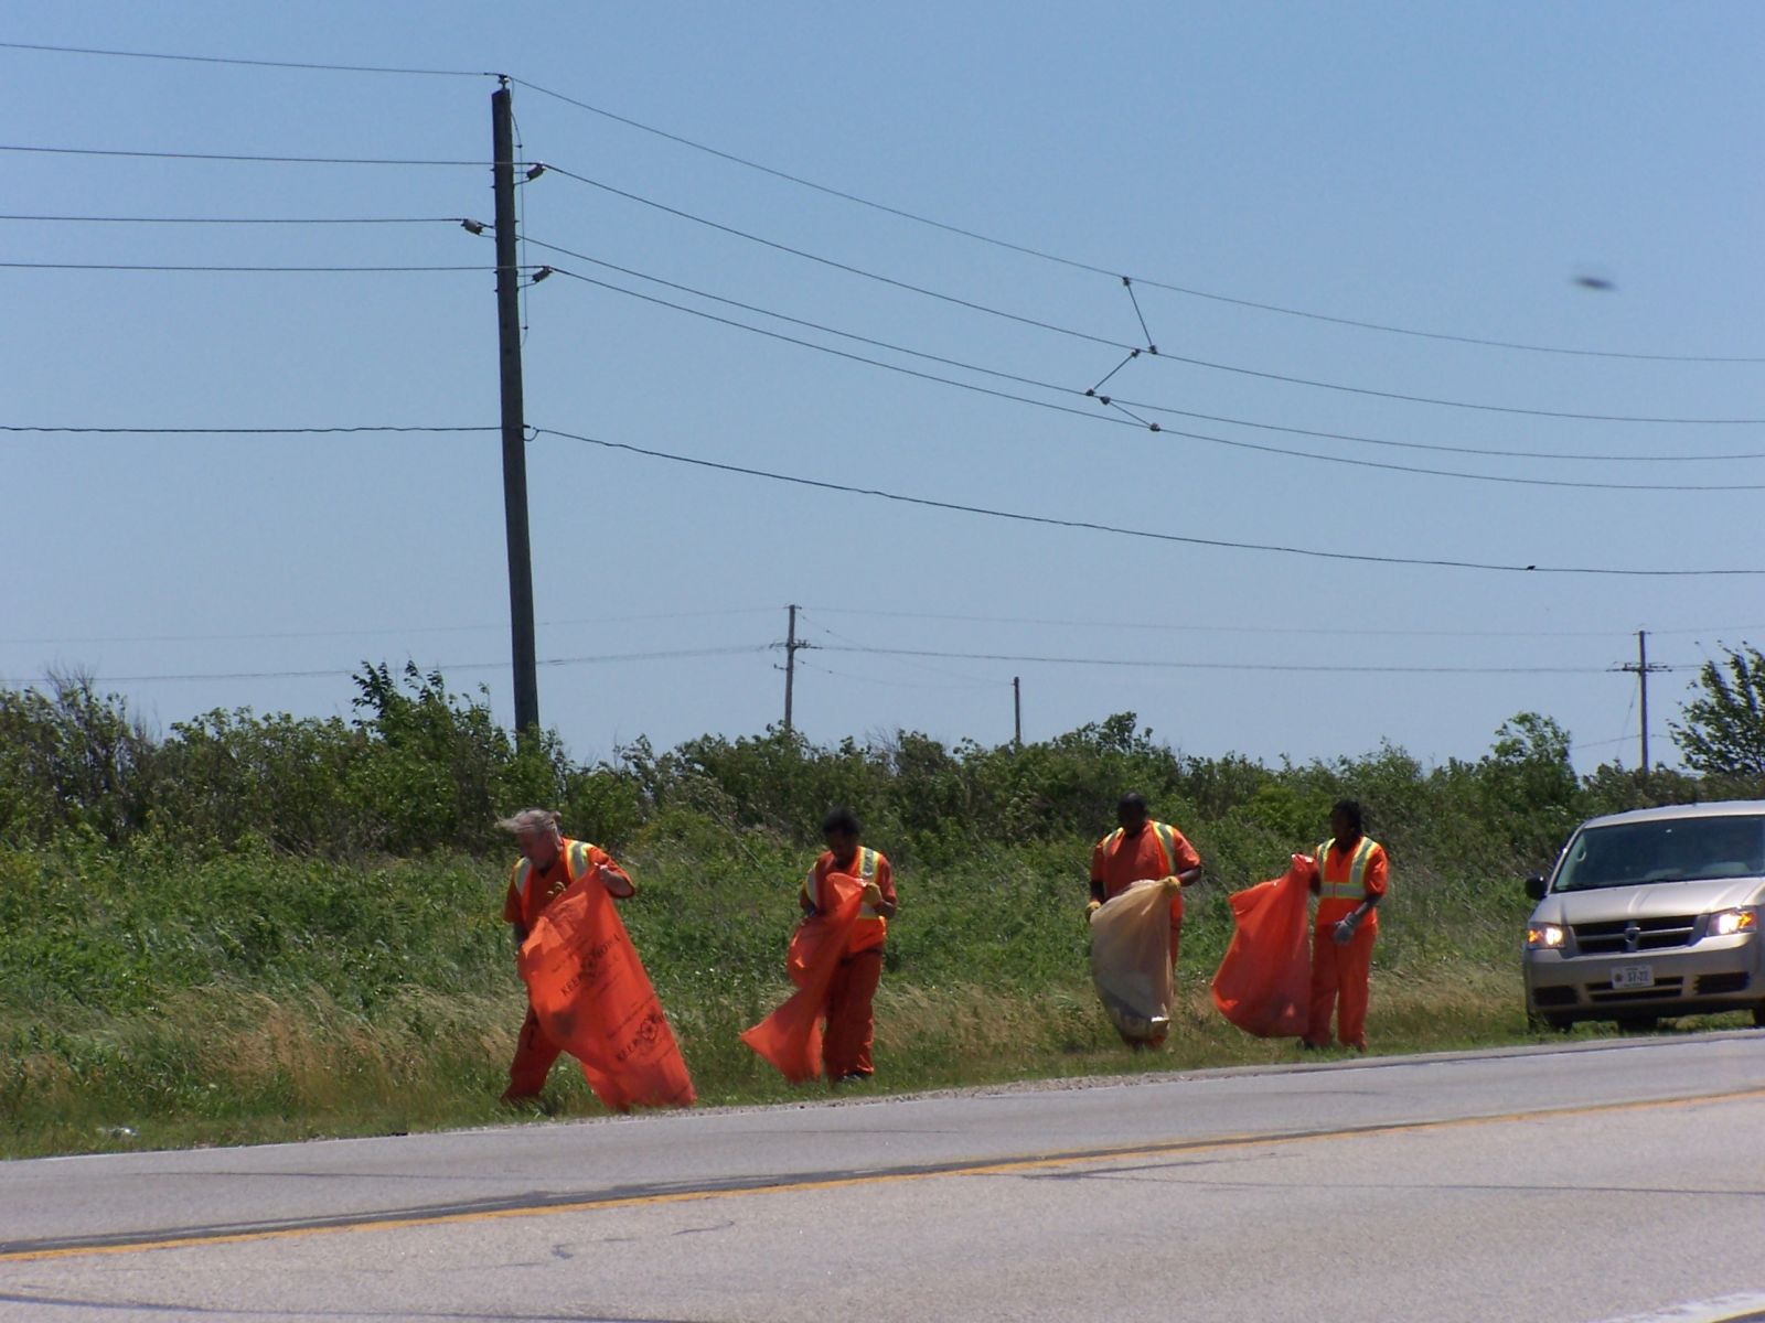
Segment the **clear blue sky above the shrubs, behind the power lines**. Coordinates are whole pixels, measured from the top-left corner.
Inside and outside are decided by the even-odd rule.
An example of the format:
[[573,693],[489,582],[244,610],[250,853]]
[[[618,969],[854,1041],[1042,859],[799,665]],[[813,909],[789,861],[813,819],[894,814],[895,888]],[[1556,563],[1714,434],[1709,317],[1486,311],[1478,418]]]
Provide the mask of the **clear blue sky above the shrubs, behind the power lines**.
[[[521,79],[554,166],[522,259],[560,268],[526,293],[540,714],[577,759],[777,721],[787,603],[817,741],[1001,743],[1020,676],[1027,739],[1131,709],[1271,762],[1474,759],[1539,711],[1633,766],[1636,630],[1686,667],[1650,681],[1673,760],[1691,667],[1765,633],[1731,459],[1765,425],[1694,422],[1765,420],[1756,5],[71,4],[0,41],[462,71],[0,48],[12,148],[468,162],[7,150],[7,215],[399,220],[9,219],[11,263],[473,268],[0,268],[11,427],[494,427],[457,219],[491,219],[477,71]],[[409,658],[510,720],[494,432],[0,445],[0,681],[88,670],[166,729],[348,714]]]

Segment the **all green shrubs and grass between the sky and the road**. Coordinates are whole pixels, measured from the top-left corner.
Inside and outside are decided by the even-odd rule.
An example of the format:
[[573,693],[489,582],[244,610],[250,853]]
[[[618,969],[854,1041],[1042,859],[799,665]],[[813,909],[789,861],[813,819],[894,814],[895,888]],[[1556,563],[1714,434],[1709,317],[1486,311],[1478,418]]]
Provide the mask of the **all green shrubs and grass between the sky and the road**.
[[[1477,762],[1380,748],[1264,767],[1174,753],[1131,713],[1024,750],[913,732],[644,741],[582,767],[517,746],[439,676],[364,667],[353,721],[210,713],[155,737],[90,684],[0,690],[0,1154],[369,1134],[505,1118],[522,1016],[494,818],[540,803],[628,864],[625,907],[706,1102],[798,1095],[736,1035],[785,993],[796,878],[828,804],[895,863],[877,1087],[1288,1060],[1211,1007],[1228,891],[1363,801],[1391,850],[1380,1050],[1521,1041],[1520,877],[1596,811],[1760,794],[1603,767],[1520,714]],[[1085,863],[1142,790],[1207,861],[1163,1053],[1130,1055],[1085,975]],[[1588,1032],[1588,1030],[1580,1030]],[[561,1064],[552,1110],[597,1104]]]

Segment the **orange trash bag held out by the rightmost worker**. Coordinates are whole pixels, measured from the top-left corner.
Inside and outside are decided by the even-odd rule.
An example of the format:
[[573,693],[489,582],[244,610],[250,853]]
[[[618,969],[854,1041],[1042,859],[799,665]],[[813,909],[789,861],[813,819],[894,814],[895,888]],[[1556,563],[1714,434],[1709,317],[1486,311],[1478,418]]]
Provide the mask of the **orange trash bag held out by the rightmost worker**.
[[1296,854],[1285,877],[1232,893],[1237,931],[1214,974],[1213,997],[1220,1014],[1260,1039],[1306,1032],[1311,873],[1311,857]]

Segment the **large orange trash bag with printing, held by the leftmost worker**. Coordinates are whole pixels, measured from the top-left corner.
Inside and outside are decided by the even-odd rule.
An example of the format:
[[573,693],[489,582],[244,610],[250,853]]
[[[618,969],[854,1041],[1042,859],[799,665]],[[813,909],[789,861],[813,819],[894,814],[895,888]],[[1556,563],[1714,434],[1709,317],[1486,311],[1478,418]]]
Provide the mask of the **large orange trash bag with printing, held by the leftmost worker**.
[[687,1060],[598,868],[545,907],[519,968],[540,1028],[604,1106],[692,1106]]

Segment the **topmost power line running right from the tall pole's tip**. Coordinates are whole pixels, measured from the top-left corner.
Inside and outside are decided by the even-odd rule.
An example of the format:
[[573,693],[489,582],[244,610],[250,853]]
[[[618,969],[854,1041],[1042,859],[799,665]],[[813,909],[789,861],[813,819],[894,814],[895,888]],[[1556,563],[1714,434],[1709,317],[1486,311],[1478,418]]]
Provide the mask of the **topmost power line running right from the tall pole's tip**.
[[764,164],[761,164],[757,161],[750,161],[747,157],[734,155],[732,152],[722,152],[722,150],[718,150],[715,146],[708,146],[706,143],[694,141],[692,138],[683,138],[680,134],[667,132],[665,129],[657,129],[655,125],[642,123],[641,120],[634,120],[634,118],[625,116],[625,115],[616,115],[614,111],[604,109],[602,106],[593,106],[593,104],[590,104],[586,101],[577,101],[575,97],[568,97],[563,92],[556,92],[552,88],[540,86],[538,83],[530,83],[524,78],[510,78],[510,81],[517,83],[519,86],[524,86],[524,88],[528,88],[531,92],[538,92],[544,97],[552,97],[552,99],[561,101],[565,104],[577,106],[579,109],[586,109],[586,111],[590,111],[593,115],[600,115],[600,116],[604,116],[607,120],[612,120],[616,123],[623,123],[623,125],[627,125],[630,129],[637,129],[641,132],[653,134],[657,138],[664,138],[664,139],[667,139],[671,143],[680,143],[681,146],[690,146],[695,152],[704,152],[706,155],[718,157],[720,161],[729,161],[731,164],[743,166],[747,169],[755,169],[755,171],[759,171],[762,175],[771,175],[773,178],[784,180],[787,183],[796,183],[796,185],[805,187],[805,189],[812,189],[812,191],[826,194],[830,198],[838,198],[838,199],[847,201],[847,203],[856,203],[860,206],[868,206],[868,208],[872,208],[875,212],[882,212],[886,215],[900,217],[902,220],[913,220],[913,222],[921,224],[921,226],[930,226],[932,229],[941,229],[941,231],[944,231],[948,235],[958,235],[962,238],[971,238],[971,240],[976,240],[980,243],[988,243],[988,245],[997,247],[997,249],[1006,249],[1010,252],[1018,252],[1018,254],[1022,254],[1025,258],[1036,258],[1040,261],[1055,263],[1059,266],[1070,266],[1073,270],[1091,272],[1093,275],[1108,275],[1110,279],[1131,279],[1135,284],[1151,286],[1153,289],[1163,289],[1167,293],[1183,295],[1186,298],[1204,298],[1204,300],[1216,302],[1216,303],[1228,303],[1232,307],[1248,307],[1248,309],[1255,309],[1258,312],[1276,312],[1276,314],[1288,316],[1288,318],[1303,318],[1306,321],[1322,321],[1322,323],[1329,323],[1329,325],[1334,325],[1334,326],[1354,326],[1357,330],[1382,332],[1382,333],[1387,333],[1387,335],[1412,335],[1412,337],[1424,339],[1424,340],[1446,340],[1446,342],[1453,342],[1453,344],[1474,344],[1474,346],[1490,348],[1490,349],[1520,349],[1520,351],[1527,351],[1527,353],[1573,355],[1573,356],[1581,356],[1581,358],[1620,358],[1620,360],[1661,362],[1661,363],[1765,363],[1765,356],[1624,353],[1624,351],[1619,351],[1619,349],[1574,349],[1574,348],[1562,348],[1562,346],[1550,346],[1550,344],[1525,344],[1525,342],[1520,342],[1520,340],[1498,340],[1498,339],[1488,339],[1488,337],[1479,337],[1479,335],[1453,335],[1453,333],[1447,333],[1447,332],[1430,332],[1430,330],[1419,330],[1419,328],[1414,328],[1414,326],[1396,326],[1396,325],[1380,323],[1380,321],[1363,321],[1363,319],[1357,319],[1357,318],[1338,318],[1338,316],[1329,316],[1326,312],[1311,312],[1311,310],[1306,310],[1306,309],[1285,307],[1281,303],[1266,303],[1266,302],[1258,302],[1258,300],[1251,300],[1251,298],[1236,298],[1232,295],[1211,293],[1207,289],[1197,289],[1193,286],[1174,284],[1174,282],[1168,282],[1168,280],[1156,280],[1156,279],[1151,279],[1151,277],[1145,277],[1145,275],[1133,275],[1130,272],[1119,272],[1119,270],[1110,268],[1110,266],[1098,266],[1094,263],[1078,261],[1075,258],[1063,258],[1061,254],[1048,252],[1045,249],[1034,249],[1034,247],[1029,247],[1029,245],[1024,245],[1024,243],[1013,243],[1010,240],[1003,240],[1003,238],[997,238],[994,235],[985,235],[985,233],[976,231],[976,229],[965,229],[964,226],[955,226],[955,224],[950,224],[946,220],[935,220],[934,217],[921,215],[918,212],[909,212],[909,210],[900,208],[900,206],[890,206],[888,203],[879,203],[879,201],[874,201],[870,198],[861,198],[861,196],[858,196],[854,192],[845,192],[842,189],[833,189],[833,187],[830,187],[826,183],[817,183],[815,180],[805,178],[801,175],[792,175],[792,173],[784,171],[784,169],[775,169],[773,166],[764,166]]

